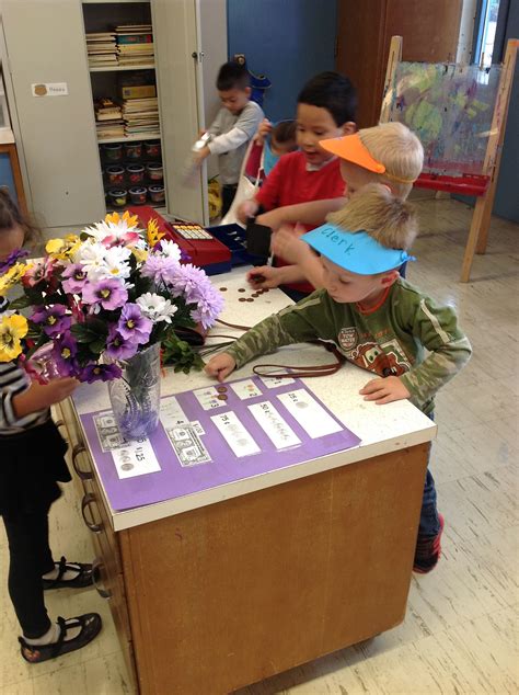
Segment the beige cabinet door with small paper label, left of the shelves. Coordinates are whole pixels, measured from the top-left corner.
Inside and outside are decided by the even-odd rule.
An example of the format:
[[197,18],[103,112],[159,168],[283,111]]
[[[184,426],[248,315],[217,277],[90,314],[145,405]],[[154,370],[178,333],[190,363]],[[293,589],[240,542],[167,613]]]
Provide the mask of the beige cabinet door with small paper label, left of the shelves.
[[[3,31],[33,209],[47,227],[104,215],[79,0],[3,0]],[[7,67],[7,66],[5,66]],[[64,95],[33,95],[62,83]],[[43,91],[43,89],[38,90]]]

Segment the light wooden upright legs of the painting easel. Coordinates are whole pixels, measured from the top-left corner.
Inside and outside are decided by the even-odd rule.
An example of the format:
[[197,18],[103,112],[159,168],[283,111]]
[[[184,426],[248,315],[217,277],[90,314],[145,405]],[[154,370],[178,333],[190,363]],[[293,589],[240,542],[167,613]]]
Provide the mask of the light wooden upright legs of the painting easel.
[[[466,240],[463,264],[461,267],[462,283],[466,283],[470,281],[474,253],[485,253],[486,251],[488,227],[491,224],[492,208],[494,206],[494,197],[496,195],[496,184],[499,174],[503,140],[505,138],[508,104],[510,101],[510,91],[514,80],[514,70],[516,68],[518,46],[519,39],[510,38],[506,47],[505,60],[503,62],[499,86],[497,89],[497,98],[494,106],[494,115],[492,118],[491,136],[486,146],[483,170],[481,172],[483,175],[488,178],[488,185],[486,190],[481,195],[478,195],[474,213],[472,215],[471,228],[469,231],[469,238]],[[385,70],[382,109],[380,112],[381,123],[385,123],[389,121],[391,109],[390,91],[394,83],[396,66],[401,60],[402,36],[393,36],[391,38],[388,68]],[[419,186],[419,181],[417,185]],[[463,191],[460,191],[460,193],[463,193]]]

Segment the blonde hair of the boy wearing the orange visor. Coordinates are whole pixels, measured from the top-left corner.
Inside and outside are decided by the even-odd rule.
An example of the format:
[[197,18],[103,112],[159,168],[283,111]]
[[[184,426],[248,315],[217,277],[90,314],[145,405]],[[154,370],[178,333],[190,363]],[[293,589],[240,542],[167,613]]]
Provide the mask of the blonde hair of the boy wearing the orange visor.
[[394,122],[362,128],[359,137],[371,157],[385,167],[378,181],[405,200],[424,166],[424,148],[416,135],[403,123]]

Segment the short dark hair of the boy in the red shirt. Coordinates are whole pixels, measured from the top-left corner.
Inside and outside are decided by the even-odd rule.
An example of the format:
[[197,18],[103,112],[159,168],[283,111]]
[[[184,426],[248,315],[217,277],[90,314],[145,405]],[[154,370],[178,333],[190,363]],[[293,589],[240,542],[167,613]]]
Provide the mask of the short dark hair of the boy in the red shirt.
[[337,127],[355,122],[357,90],[338,72],[320,72],[299,92],[298,104],[310,104],[330,111]]

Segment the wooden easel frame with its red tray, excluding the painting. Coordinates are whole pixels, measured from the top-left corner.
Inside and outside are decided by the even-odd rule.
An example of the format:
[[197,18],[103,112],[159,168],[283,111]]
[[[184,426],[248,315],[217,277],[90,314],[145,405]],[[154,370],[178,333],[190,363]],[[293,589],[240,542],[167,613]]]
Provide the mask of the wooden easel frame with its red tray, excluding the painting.
[[[485,253],[488,239],[492,208],[496,194],[496,184],[499,174],[499,164],[505,137],[508,104],[516,67],[517,48],[519,39],[510,38],[507,43],[505,60],[503,62],[497,98],[492,118],[491,135],[486,147],[481,175],[431,175],[420,174],[415,185],[418,187],[448,191],[463,195],[475,195],[477,202],[472,215],[471,228],[465,246],[463,265],[461,269],[461,282],[470,281],[474,253]],[[385,71],[384,91],[380,122],[390,119],[391,99],[390,91],[394,84],[396,66],[402,60],[402,36],[393,36],[391,39],[388,68]],[[460,172],[463,174],[463,172]]]

